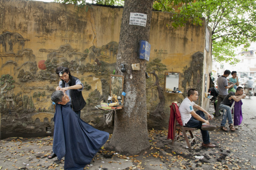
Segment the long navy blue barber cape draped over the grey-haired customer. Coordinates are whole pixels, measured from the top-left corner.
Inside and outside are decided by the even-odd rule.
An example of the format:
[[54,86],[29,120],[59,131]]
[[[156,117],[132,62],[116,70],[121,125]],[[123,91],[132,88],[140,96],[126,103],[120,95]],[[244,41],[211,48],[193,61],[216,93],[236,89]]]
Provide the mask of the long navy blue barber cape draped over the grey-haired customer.
[[70,105],[56,104],[52,150],[59,160],[65,156],[65,170],[83,170],[108,137],[80,119]]

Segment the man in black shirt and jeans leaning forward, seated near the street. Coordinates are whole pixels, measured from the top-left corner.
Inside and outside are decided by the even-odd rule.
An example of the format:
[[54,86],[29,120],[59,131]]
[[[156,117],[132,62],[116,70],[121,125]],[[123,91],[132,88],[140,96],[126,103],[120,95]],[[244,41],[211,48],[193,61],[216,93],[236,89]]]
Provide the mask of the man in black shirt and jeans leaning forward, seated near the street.
[[227,132],[228,129],[225,127],[226,121],[228,119],[229,128],[231,131],[235,131],[234,124],[232,121],[232,115],[231,115],[231,105],[232,103],[239,102],[241,99],[244,99],[246,94],[243,94],[243,88],[237,87],[236,93],[230,92],[226,97],[224,97],[223,101],[219,105],[219,110],[223,110],[223,117],[221,121],[221,130]]

